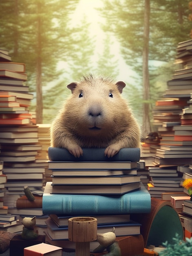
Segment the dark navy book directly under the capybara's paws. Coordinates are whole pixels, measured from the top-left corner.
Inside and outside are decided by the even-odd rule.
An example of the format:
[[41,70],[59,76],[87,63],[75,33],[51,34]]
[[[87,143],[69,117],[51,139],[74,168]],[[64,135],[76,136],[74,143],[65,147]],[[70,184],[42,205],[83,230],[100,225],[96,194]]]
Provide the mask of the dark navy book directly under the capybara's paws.
[[114,157],[104,156],[105,148],[83,148],[83,155],[74,157],[65,148],[48,148],[50,161],[75,161],[75,162],[139,162],[140,148],[121,148]]

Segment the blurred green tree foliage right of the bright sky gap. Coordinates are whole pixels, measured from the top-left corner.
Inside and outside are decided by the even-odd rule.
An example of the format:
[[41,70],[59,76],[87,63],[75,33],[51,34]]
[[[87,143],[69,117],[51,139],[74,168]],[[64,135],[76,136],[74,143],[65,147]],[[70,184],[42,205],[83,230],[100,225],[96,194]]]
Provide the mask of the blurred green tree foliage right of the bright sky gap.
[[[146,8],[146,3],[148,3],[149,10]],[[150,11],[150,13],[147,13],[147,11]],[[177,43],[189,39],[191,23],[188,20],[190,13],[188,1],[104,0],[104,7],[100,8],[99,12],[106,19],[106,22],[102,24],[102,28],[106,33],[110,31],[115,35],[121,45],[123,58],[138,75],[137,90],[134,85],[129,85],[131,89],[129,90],[129,98],[132,99],[132,105],[136,110],[137,117],[143,118],[143,126],[145,126],[146,122],[150,122],[148,117],[150,117],[152,103],[161,96],[162,89],[165,89],[164,87],[154,86],[155,78],[161,76],[160,70],[159,72],[157,70],[154,72],[154,61],[161,61],[165,64],[173,61]],[[149,18],[148,41],[144,34],[146,13],[146,17]],[[147,44],[148,58],[143,59]],[[143,67],[148,64],[149,81],[147,87],[145,85],[147,71],[143,70]],[[169,70],[171,71],[172,69],[169,68]],[[149,90],[147,100],[144,95],[146,90]],[[143,106],[146,104],[148,108],[145,110]],[[145,111],[144,113],[141,111],[142,108]]]

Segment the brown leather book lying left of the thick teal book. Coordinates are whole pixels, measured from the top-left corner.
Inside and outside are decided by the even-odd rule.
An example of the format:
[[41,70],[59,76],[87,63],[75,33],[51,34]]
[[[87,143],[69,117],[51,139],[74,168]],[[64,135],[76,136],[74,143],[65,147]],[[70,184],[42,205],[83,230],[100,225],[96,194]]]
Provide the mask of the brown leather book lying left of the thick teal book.
[[29,201],[26,195],[21,196],[18,198],[16,202],[16,207],[21,208],[42,208],[42,196],[34,195],[35,200]]

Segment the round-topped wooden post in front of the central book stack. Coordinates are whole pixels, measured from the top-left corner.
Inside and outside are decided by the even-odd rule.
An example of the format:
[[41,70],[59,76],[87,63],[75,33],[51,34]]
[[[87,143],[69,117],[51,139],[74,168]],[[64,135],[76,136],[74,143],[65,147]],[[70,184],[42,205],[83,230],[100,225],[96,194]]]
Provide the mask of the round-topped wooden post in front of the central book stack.
[[97,219],[93,217],[68,219],[68,239],[75,242],[75,256],[90,256],[90,242],[97,240]]

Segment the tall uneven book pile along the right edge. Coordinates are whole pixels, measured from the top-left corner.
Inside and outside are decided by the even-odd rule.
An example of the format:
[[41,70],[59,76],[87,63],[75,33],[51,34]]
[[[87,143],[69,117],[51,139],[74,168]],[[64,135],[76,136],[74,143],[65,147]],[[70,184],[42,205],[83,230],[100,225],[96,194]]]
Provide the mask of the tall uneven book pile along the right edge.
[[149,191],[153,195],[155,191],[160,194],[183,190],[184,176],[179,166],[192,164],[192,51],[188,50],[191,44],[192,40],[178,44],[175,63],[179,69],[167,82],[164,98],[156,102],[153,110],[154,124],[161,136],[154,167],[149,170],[152,180]]

